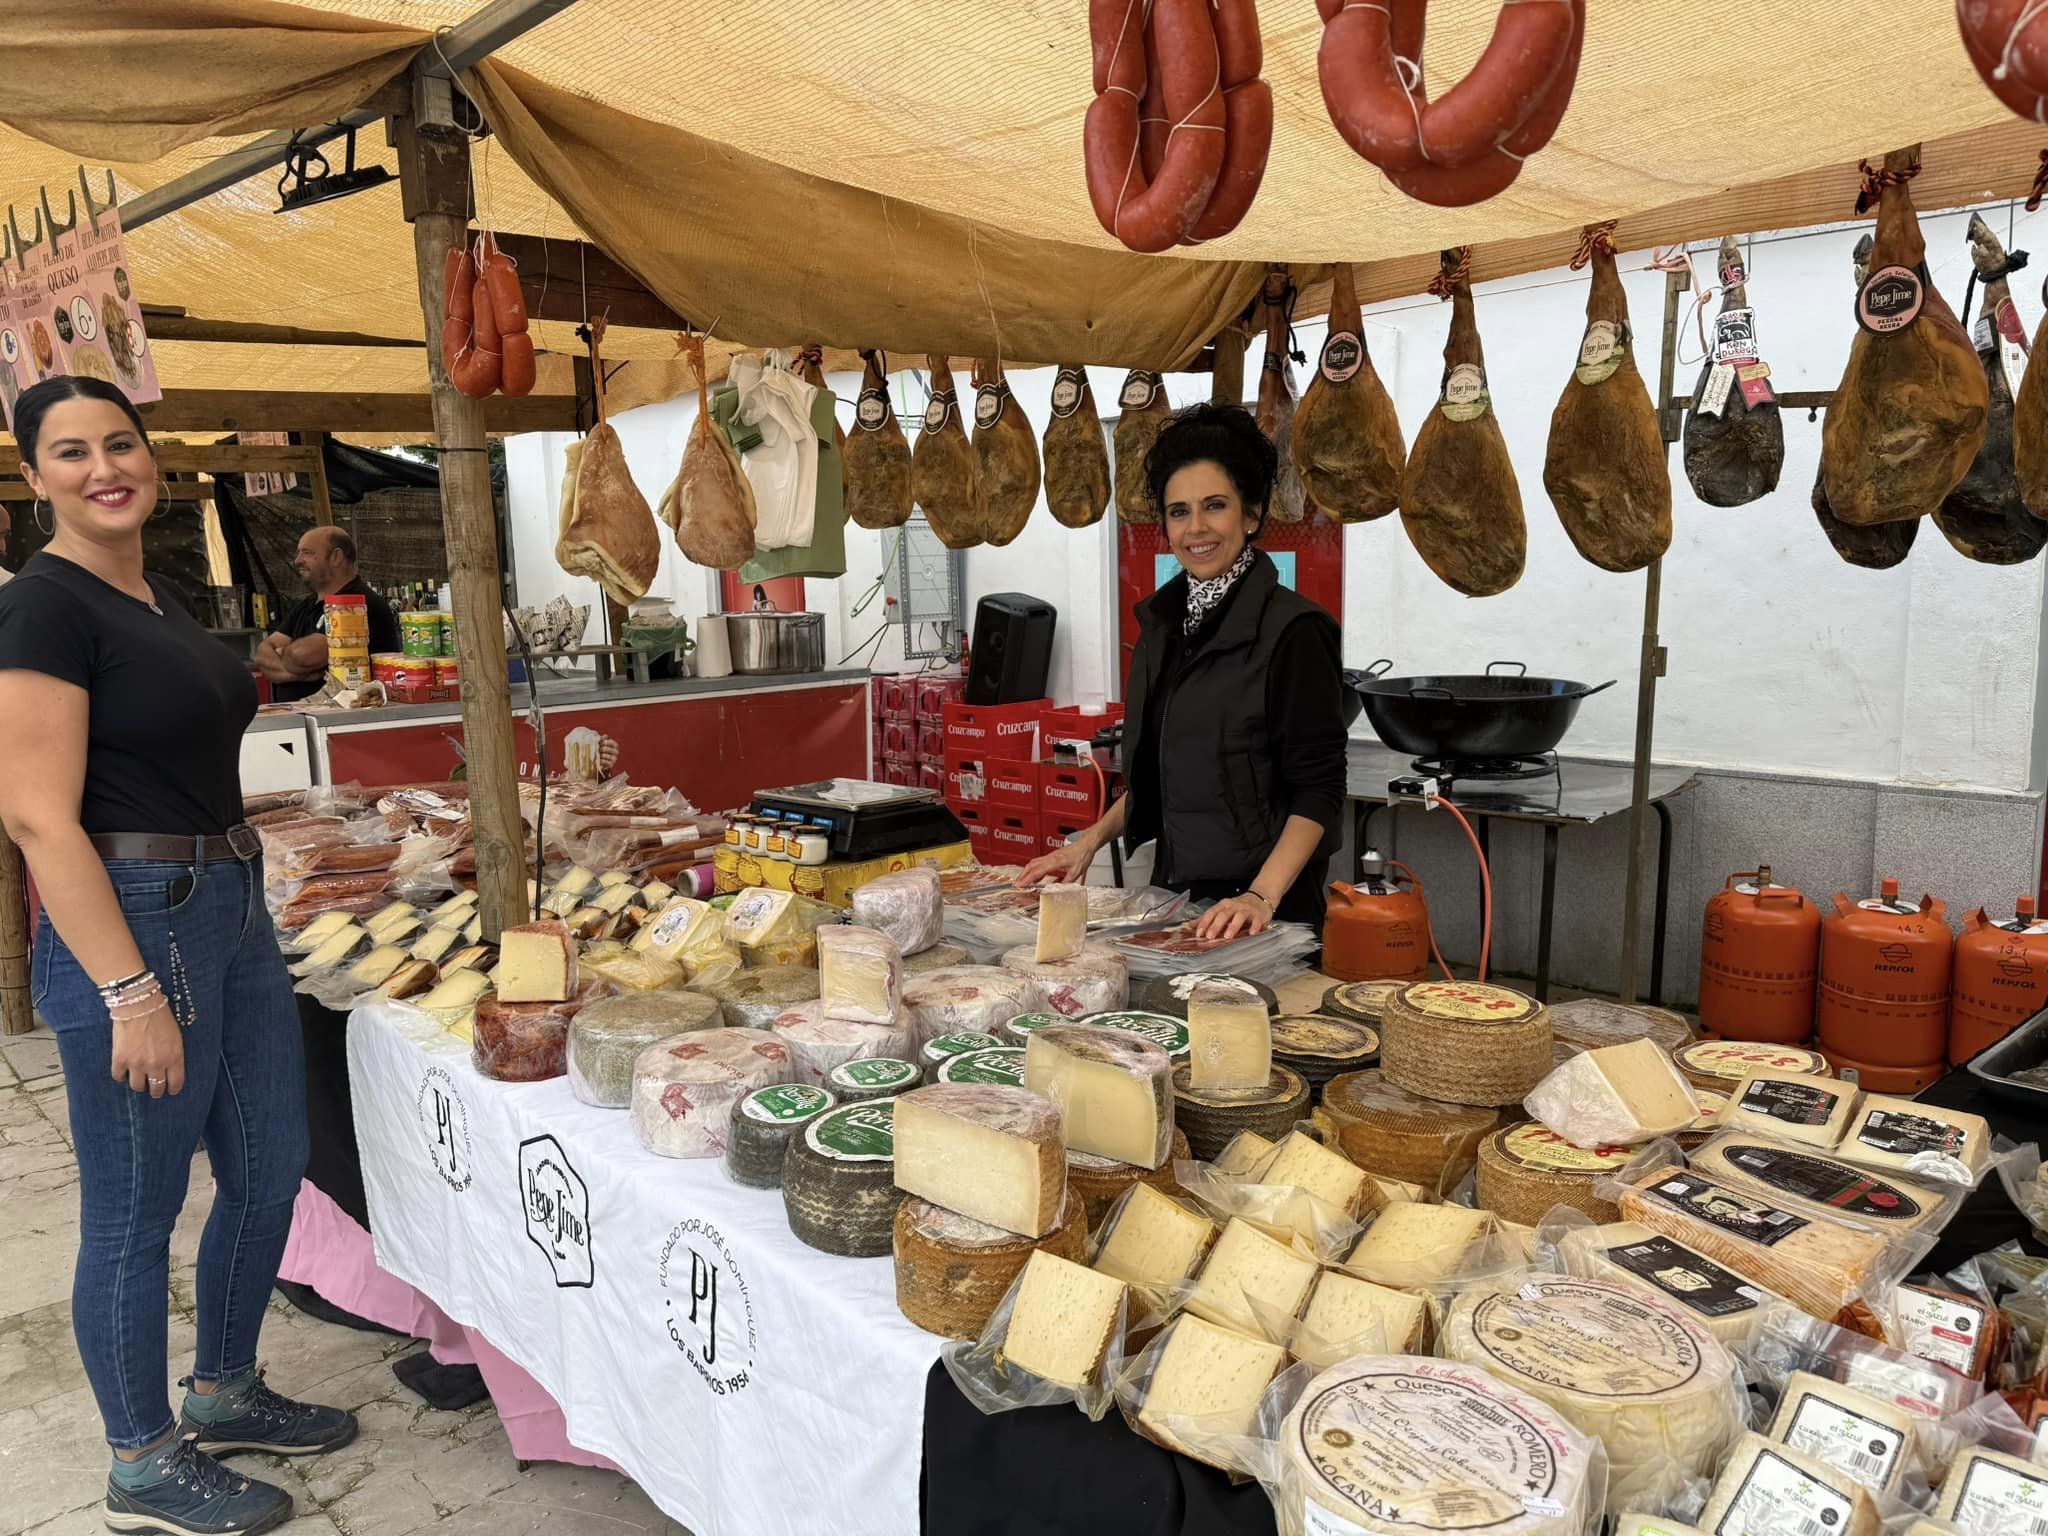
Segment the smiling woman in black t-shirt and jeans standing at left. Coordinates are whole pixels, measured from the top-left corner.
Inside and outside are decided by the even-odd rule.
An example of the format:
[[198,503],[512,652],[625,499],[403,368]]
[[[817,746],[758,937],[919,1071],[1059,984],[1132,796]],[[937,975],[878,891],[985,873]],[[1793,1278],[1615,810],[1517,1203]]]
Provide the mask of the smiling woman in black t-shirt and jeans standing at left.
[[[256,1532],[291,1495],[213,1454],[313,1454],[354,1417],[256,1364],[305,1167],[291,983],[242,825],[248,670],[143,571],[156,455],[127,397],[59,377],[14,401],[49,545],[0,588],[0,821],[43,901],[33,999],[57,1036],[78,1149],[72,1331],[115,1458],[121,1530]],[[170,1229],[205,1139],[199,1343],[164,1391]]]

